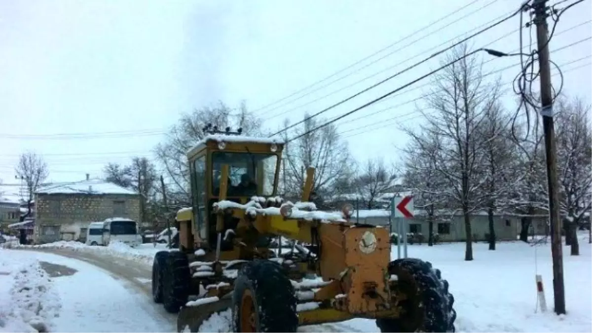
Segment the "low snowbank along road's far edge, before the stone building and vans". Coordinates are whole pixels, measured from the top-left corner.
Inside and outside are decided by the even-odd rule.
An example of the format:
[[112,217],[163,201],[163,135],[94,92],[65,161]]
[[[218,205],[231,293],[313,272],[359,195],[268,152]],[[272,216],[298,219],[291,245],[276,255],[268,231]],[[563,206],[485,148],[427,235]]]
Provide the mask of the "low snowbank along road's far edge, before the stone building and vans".
[[59,241],[41,245],[16,245],[13,248],[31,248],[31,249],[70,249],[72,251],[86,252],[90,254],[111,255],[112,257],[125,260],[142,262],[152,265],[154,255],[158,251],[166,249],[163,245],[156,248],[153,244],[142,244],[138,248],[131,248],[122,242],[111,242],[108,246],[90,246],[75,241]]

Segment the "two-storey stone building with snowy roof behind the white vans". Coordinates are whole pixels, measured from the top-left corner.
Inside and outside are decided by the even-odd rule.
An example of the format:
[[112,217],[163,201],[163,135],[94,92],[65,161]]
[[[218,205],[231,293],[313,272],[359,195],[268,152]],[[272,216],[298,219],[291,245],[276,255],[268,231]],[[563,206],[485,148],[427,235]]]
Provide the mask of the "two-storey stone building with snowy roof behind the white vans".
[[124,217],[140,222],[140,196],[111,182],[87,179],[41,188],[35,194],[34,242],[85,241],[91,222]]

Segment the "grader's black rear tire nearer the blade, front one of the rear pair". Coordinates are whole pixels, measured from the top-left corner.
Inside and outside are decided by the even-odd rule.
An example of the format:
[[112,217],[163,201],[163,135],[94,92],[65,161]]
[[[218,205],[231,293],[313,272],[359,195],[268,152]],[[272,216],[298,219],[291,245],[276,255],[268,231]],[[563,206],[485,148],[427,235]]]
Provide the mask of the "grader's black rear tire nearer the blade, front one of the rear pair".
[[187,303],[191,283],[186,254],[180,251],[168,252],[162,283],[162,303],[166,312],[179,312],[179,308]]

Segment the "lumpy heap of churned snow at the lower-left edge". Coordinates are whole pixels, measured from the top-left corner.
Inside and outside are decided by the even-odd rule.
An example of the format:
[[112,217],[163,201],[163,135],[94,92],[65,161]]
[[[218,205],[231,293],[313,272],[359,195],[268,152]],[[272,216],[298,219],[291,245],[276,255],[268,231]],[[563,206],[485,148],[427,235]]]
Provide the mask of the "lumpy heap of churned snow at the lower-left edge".
[[62,305],[39,262],[16,262],[0,250],[0,273],[1,331],[51,331],[52,319],[59,315]]

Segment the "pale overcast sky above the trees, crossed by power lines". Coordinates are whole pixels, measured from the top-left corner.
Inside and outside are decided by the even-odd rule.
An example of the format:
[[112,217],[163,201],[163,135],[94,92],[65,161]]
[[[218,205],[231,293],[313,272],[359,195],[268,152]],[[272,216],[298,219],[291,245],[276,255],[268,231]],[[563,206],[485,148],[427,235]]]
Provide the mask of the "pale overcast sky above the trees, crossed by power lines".
[[[308,89],[304,97],[295,95],[259,110],[471,2],[0,0],[0,178],[15,182],[14,166],[24,151],[44,156],[53,181],[81,180],[86,173],[100,176],[107,162],[150,156],[179,113],[218,100],[229,105],[245,100],[250,110],[269,118],[266,126],[277,129],[286,117],[297,121],[307,111],[322,110],[508,14],[520,1],[478,0]],[[551,50],[592,37],[591,23],[572,28],[591,20],[592,1],[575,8],[559,21]],[[511,32],[518,27],[516,17],[472,43],[480,47],[508,35],[489,47],[515,52],[519,34]],[[592,39],[551,56],[562,65],[591,55]],[[384,59],[366,65],[378,57]],[[352,110],[429,72],[439,60],[324,116]],[[485,63],[484,71],[516,62],[496,58]],[[592,57],[562,66],[565,92],[590,92],[592,66],[584,65],[591,63]],[[497,75],[509,83],[517,71],[514,67]],[[406,141],[397,128],[420,121],[412,100],[425,89],[412,87],[338,121],[356,158],[397,161],[397,147]],[[400,106],[376,113],[395,105]]]

